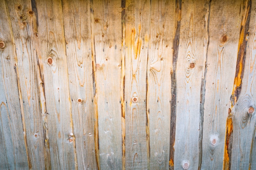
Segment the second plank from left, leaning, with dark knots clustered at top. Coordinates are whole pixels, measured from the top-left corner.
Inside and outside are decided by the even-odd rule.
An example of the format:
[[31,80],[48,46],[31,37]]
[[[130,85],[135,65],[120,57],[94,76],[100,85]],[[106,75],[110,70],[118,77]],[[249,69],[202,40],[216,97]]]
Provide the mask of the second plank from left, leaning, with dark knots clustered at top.
[[31,1],[7,0],[16,44],[17,74],[25,121],[29,169],[45,169],[44,135],[37,82],[34,12]]

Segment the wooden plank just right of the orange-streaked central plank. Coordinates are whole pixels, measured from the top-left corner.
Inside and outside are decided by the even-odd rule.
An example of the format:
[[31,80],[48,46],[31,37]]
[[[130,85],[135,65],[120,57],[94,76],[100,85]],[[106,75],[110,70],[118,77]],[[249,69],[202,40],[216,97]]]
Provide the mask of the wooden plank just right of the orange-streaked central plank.
[[[171,118],[171,65],[175,34],[175,1],[152,0],[148,52],[150,169],[169,167]],[[170,55],[171,54],[171,55]]]

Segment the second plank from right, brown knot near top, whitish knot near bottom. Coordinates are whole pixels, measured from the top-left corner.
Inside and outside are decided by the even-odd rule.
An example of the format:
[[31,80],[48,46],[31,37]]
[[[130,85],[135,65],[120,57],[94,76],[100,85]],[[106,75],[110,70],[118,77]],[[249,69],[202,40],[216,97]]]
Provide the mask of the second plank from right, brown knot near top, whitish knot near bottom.
[[[236,73],[242,0],[210,2],[202,139],[203,170],[223,169],[226,120]],[[242,9],[240,9],[242,8]]]

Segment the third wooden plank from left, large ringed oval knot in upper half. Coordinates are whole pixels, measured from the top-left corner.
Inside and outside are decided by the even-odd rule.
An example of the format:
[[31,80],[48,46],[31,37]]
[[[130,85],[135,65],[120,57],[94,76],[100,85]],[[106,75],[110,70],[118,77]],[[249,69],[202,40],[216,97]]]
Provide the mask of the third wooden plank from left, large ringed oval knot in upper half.
[[36,0],[36,5],[39,23],[36,51],[42,72],[40,75],[44,80],[51,166],[61,170],[75,169],[75,140],[61,1]]

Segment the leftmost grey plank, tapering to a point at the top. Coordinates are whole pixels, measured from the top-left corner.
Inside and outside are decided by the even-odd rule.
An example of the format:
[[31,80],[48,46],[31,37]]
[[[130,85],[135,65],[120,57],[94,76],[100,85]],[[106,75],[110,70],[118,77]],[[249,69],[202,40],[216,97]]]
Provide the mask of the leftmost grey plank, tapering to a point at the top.
[[17,57],[7,6],[0,2],[0,169],[27,170],[28,160],[20,108]]

